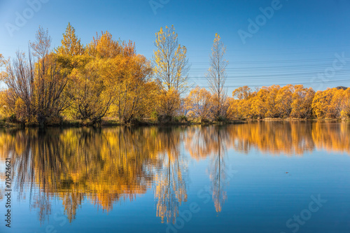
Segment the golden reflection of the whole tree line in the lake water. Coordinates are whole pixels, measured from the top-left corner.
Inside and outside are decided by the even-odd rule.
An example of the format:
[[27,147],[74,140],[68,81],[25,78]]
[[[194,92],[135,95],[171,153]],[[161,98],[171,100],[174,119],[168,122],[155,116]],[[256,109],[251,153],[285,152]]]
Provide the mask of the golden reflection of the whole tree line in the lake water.
[[[132,201],[154,187],[156,215],[174,223],[188,198],[186,154],[194,161],[209,160],[212,199],[220,212],[227,198],[228,150],[302,156],[322,149],[350,154],[349,133],[349,124],[330,122],[1,129],[0,162],[12,158],[19,198],[29,198],[41,222],[50,216],[55,199],[62,200],[72,221],[85,201],[109,212],[114,204]],[[5,180],[4,173],[0,180]]]

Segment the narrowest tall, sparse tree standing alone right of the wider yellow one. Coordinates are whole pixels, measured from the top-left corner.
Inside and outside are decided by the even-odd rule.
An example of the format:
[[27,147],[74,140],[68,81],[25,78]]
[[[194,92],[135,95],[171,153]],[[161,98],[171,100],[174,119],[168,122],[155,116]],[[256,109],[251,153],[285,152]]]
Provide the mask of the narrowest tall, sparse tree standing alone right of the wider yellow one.
[[219,34],[215,35],[214,44],[211,48],[210,68],[206,74],[209,90],[214,97],[214,115],[218,119],[221,115],[225,115],[224,103],[227,98],[225,90],[226,66],[228,61],[224,58],[226,47],[221,41]]

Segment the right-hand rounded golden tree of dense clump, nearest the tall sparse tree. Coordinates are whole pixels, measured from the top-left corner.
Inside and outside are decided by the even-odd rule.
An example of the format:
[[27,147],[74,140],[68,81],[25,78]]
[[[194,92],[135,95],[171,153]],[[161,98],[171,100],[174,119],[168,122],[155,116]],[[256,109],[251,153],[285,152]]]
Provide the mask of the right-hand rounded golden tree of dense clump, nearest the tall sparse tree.
[[[123,49],[128,49],[129,46],[134,45]],[[118,56],[111,59],[111,65],[104,66],[104,69],[105,78],[116,89],[116,100],[111,111],[115,111],[124,123],[143,117],[152,105],[148,100],[154,99],[155,92],[158,91],[151,84],[152,68],[146,57],[136,53]]]

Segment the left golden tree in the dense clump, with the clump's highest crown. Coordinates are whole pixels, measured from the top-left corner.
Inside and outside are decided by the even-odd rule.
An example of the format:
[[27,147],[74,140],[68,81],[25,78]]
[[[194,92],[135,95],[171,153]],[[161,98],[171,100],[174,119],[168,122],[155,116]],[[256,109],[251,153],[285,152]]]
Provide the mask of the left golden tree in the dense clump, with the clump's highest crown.
[[117,71],[117,67],[111,59],[121,54],[120,43],[108,31],[102,31],[101,36],[97,34],[86,46],[80,65],[73,67],[70,75],[75,90],[71,117],[98,122],[106,115],[117,93],[111,83],[118,76],[111,70]]

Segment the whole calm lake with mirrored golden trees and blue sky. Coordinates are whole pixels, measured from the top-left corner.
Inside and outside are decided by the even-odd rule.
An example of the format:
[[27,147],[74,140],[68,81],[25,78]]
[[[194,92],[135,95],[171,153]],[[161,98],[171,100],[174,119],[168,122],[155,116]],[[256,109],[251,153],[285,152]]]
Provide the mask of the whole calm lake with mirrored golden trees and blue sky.
[[0,153],[0,232],[350,232],[349,123],[0,129]]

